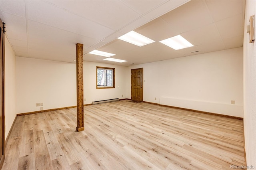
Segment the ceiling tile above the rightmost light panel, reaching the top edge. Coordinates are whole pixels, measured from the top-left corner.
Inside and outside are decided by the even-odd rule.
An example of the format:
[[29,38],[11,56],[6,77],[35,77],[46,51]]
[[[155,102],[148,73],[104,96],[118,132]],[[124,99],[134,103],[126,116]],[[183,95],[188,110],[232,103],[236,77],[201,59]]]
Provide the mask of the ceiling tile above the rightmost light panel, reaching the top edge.
[[212,18],[204,1],[192,0],[161,16],[173,27],[176,35],[211,24]]

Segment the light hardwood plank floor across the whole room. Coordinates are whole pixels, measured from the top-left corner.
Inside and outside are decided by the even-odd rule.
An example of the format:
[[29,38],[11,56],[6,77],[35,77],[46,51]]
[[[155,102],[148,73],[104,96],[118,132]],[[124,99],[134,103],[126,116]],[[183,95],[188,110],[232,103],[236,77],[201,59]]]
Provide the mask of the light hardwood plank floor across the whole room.
[[128,100],[19,116],[3,170],[230,169],[244,165],[243,122]]

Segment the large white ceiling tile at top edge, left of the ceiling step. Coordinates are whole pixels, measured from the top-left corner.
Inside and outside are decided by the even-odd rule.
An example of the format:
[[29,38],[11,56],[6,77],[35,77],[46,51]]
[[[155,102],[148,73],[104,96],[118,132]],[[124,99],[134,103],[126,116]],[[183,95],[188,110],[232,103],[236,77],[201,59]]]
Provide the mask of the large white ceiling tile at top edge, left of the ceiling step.
[[[48,1],[74,14],[100,23],[112,30],[119,30],[140,17],[136,11],[117,0]],[[145,4],[144,4],[145,6]]]

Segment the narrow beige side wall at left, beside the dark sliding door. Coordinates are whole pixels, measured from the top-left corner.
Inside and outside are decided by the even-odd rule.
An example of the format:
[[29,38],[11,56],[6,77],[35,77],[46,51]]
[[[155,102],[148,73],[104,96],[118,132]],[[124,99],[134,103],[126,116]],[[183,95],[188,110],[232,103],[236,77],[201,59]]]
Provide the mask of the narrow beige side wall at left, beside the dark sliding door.
[[5,37],[5,125],[7,137],[16,117],[16,56]]

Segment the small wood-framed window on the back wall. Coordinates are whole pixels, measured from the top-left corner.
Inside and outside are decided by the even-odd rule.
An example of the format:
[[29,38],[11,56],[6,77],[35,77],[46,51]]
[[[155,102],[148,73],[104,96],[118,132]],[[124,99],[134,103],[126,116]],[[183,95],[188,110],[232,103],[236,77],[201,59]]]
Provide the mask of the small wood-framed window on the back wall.
[[107,67],[96,67],[97,89],[115,88],[115,69]]

